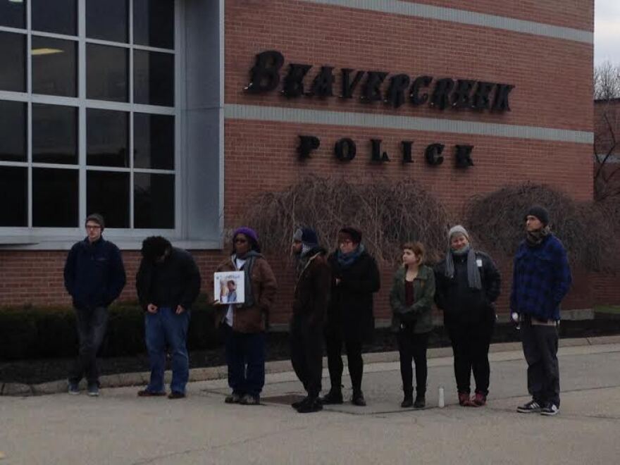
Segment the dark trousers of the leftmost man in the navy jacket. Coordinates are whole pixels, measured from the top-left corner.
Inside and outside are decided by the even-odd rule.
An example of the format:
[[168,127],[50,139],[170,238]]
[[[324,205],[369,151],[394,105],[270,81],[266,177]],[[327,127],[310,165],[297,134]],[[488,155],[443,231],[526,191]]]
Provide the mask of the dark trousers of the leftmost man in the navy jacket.
[[75,309],[75,317],[80,351],[69,373],[69,381],[77,384],[85,376],[89,385],[99,385],[97,352],[106,335],[108,309],[104,306]]

